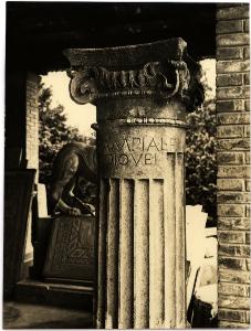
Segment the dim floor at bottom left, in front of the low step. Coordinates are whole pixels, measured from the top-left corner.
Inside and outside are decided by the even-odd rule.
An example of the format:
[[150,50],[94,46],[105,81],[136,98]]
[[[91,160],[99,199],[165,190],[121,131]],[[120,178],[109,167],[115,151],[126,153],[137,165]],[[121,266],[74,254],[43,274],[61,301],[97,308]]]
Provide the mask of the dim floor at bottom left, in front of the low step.
[[3,303],[3,329],[92,329],[92,313],[8,301]]

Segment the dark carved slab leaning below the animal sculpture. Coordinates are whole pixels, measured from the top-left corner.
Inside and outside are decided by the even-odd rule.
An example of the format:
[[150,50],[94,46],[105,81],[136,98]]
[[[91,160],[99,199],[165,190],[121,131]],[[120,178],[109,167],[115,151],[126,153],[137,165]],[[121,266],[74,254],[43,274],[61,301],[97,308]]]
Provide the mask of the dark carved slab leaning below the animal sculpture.
[[59,216],[53,220],[44,277],[55,281],[93,281],[94,222],[92,216]]

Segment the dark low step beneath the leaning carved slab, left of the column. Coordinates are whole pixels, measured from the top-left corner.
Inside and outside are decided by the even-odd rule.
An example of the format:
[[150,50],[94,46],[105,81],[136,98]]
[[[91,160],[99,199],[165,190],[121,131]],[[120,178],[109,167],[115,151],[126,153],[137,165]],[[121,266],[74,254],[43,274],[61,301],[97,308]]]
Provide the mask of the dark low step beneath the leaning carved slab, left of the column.
[[17,284],[15,300],[92,311],[93,287],[25,279]]

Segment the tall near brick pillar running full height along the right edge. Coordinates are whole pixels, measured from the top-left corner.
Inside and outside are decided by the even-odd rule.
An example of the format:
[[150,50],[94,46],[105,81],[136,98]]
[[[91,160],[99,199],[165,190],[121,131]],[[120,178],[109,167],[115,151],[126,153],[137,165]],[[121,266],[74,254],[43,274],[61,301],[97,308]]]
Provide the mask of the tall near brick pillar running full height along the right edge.
[[219,327],[250,322],[249,7],[217,8]]

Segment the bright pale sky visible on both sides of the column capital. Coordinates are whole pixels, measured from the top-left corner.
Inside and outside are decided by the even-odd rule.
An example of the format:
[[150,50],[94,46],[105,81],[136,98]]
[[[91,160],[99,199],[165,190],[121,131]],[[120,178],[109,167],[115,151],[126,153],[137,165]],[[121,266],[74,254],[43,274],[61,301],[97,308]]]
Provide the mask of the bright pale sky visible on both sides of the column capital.
[[[208,85],[212,88],[208,97],[213,96],[216,89],[216,60],[203,60],[200,62],[202,70],[206,72]],[[93,129],[91,125],[96,121],[96,107],[75,104],[69,93],[70,78],[65,72],[50,72],[46,76],[42,76],[42,83],[45,87],[52,89],[52,106],[59,104],[64,106],[67,124],[76,127],[83,136],[91,136]]]

